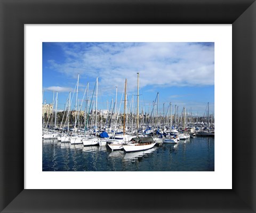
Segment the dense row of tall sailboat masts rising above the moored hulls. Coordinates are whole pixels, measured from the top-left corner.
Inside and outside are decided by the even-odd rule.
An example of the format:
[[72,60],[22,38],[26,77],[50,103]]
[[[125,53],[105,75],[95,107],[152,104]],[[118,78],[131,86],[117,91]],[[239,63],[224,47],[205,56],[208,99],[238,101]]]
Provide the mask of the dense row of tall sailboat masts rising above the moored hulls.
[[[181,112],[181,115],[179,116],[179,106],[175,105],[175,111],[174,111],[174,114],[172,114],[172,103],[169,104],[169,107],[167,109],[167,112],[169,111],[169,118],[167,116],[167,112],[165,114],[165,111],[164,111],[164,105],[163,104],[163,114],[162,113],[159,113],[158,111],[158,103],[159,103],[159,93],[157,93],[157,104],[156,104],[156,100],[153,101],[153,110],[151,111],[151,114],[150,114],[150,117],[149,117],[149,113],[144,115],[144,112],[143,112],[143,109],[141,111],[141,113],[139,113],[139,73],[137,73],[138,75],[138,82],[137,82],[137,119],[136,119],[136,129],[137,129],[137,136],[138,136],[138,130],[139,130],[139,125],[150,125],[150,126],[155,126],[157,128],[160,128],[160,127],[165,127],[165,126],[169,126],[169,128],[172,128],[172,126],[176,126],[176,127],[183,127],[184,129],[187,127],[186,125],[189,125],[189,124],[195,124],[196,122],[196,117],[192,117],[192,113],[190,111],[190,117],[188,116],[188,113],[186,112],[186,108],[183,107],[183,110]],[[79,84],[79,74],[78,74],[78,79],[77,79],[77,84],[76,84],[76,105],[75,105],[75,125],[74,125],[74,128],[76,129],[77,127],[77,124],[79,127],[82,127],[82,124],[81,122],[79,123],[79,113],[81,112],[81,108],[82,108],[82,103],[81,105],[79,105],[79,110],[77,110],[77,100],[78,100],[78,84]],[[131,112],[131,109],[130,109],[130,106],[129,106],[129,111],[130,113],[128,112],[127,110],[127,94],[126,94],[126,86],[127,86],[127,79],[125,79],[125,95],[124,95],[124,113],[123,113],[123,119],[122,119],[122,116],[121,119],[119,120],[119,125],[121,125],[121,122],[123,120],[123,134],[125,134],[125,125],[128,125],[132,128],[133,130],[133,124],[134,124],[134,113],[133,113],[133,95],[132,95],[132,112]],[[89,96],[88,96],[88,91],[89,91],[89,83],[87,83],[87,87],[86,87],[86,90],[84,92],[84,96],[85,96],[85,93],[87,91],[87,97],[86,97],[86,107],[85,107],[85,111],[84,111],[84,127],[85,129],[87,127],[89,127],[89,117],[91,117],[94,123],[94,128],[95,128],[95,131],[97,131],[98,129],[98,125],[99,125],[99,122],[98,122],[98,109],[97,109],[97,106],[98,106],[98,77],[96,79],[96,83],[95,83],[95,86],[94,86],[94,90],[95,90],[95,87],[96,87],[96,94],[95,94],[95,111],[93,112],[93,110],[91,110],[91,105],[93,103],[94,105],[94,101],[93,101],[93,96],[92,96],[92,99],[91,99],[91,102],[89,100]],[[93,91],[93,94],[94,94],[94,91]],[[55,104],[55,119],[54,119],[54,128],[57,128],[58,126],[58,122],[57,122],[57,105],[58,105],[58,92],[57,92],[57,95],[56,95],[56,98],[54,99],[53,98],[53,104]],[[84,97],[83,99],[84,100]],[[63,117],[62,117],[62,121],[61,121],[61,126],[63,124],[63,119],[64,119],[64,116],[65,116],[65,113],[67,112],[67,116],[66,116],[66,120],[64,122],[64,126],[67,126],[67,131],[69,132],[69,124],[70,124],[70,104],[71,104],[71,92],[69,92],[69,97],[68,97],[68,100],[67,100],[67,109],[65,110],[64,114],[63,114]],[[79,102],[79,101],[78,101]],[[112,104],[113,101],[111,101],[111,104]],[[113,106],[113,110],[112,110],[112,113],[110,113],[111,115],[111,118],[113,117],[113,114],[114,114],[114,124],[115,126],[117,125],[117,87],[116,87],[116,101],[115,101],[115,104],[113,104],[115,106],[115,113],[114,113],[114,106]],[[155,105],[156,105],[156,109],[155,109]],[[89,110],[87,109],[89,107]],[[93,107],[94,108],[94,107]],[[211,125],[211,122],[213,121],[212,119],[210,119],[210,116],[209,116],[209,103],[207,103],[207,127],[209,128],[210,125]],[[90,110],[91,110],[91,113],[90,113]],[[110,110],[109,110],[110,111]],[[155,111],[156,111],[156,115],[155,115]],[[78,113],[77,113],[78,112]],[[97,113],[96,113],[97,112]],[[119,112],[118,112],[119,113]],[[93,116],[94,114],[94,116]],[[153,114],[153,116],[152,116]],[[107,119],[109,118],[109,113],[108,113],[108,116],[107,116]],[[140,118],[142,117],[142,118]],[[50,117],[49,117],[50,119]],[[46,125],[45,127],[49,124],[49,119],[47,120],[46,122]],[[111,119],[110,119],[111,120]],[[126,122],[126,120],[130,121],[129,123]],[[168,122],[169,120],[169,122]],[[194,121],[193,121],[194,120]],[[200,119],[200,121],[202,122],[202,118]],[[102,112],[101,112],[101,128],[102,128]],[[213,121],[214,122],[214,121]],[[199,117],[197,117],[197,123],[199,123]],[[108,124],[108,127],[110,127],[111,124]],[[116,128],[116,127],[115,127]]]

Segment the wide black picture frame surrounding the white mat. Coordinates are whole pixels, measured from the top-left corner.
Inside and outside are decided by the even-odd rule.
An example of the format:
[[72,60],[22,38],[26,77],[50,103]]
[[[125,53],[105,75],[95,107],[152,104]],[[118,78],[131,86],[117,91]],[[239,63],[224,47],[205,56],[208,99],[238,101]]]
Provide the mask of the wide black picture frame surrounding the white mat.
[[[0,7],[1,212],[256,212],[255,0],[1,0]],[[24,24],[49,23],[232,24],[233,106],[223,108],[233,112],[226,121],[233,189],[24,190]]]

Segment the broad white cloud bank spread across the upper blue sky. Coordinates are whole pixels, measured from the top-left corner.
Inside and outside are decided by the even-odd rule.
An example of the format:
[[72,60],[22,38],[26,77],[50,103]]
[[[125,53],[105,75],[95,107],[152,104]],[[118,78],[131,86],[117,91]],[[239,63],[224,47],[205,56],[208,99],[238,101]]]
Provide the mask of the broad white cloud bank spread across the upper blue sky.
[[61,43],[65,63],[51,68],[67,77],[99,77],[106,88],[214,85],[214,45],[199,43]]

